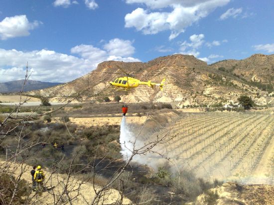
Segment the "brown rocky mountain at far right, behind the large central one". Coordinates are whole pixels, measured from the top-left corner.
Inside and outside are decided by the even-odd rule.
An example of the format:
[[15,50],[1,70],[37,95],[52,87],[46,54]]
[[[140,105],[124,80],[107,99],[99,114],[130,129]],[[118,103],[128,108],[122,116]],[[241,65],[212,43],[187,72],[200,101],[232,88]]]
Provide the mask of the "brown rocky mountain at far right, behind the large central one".
[[274,84],[274,55],[254,54],[244,60],[224,60],[211,64],[246,79],[262,84]]

